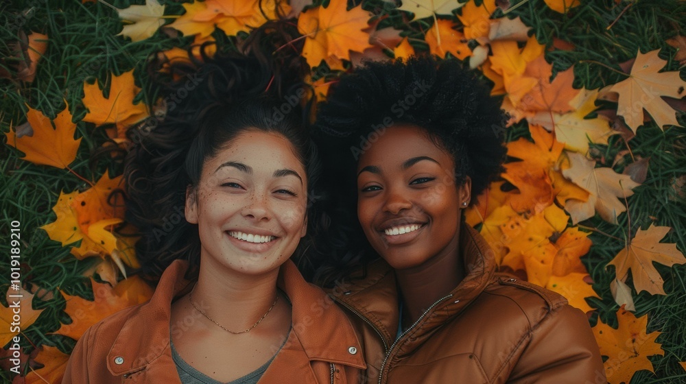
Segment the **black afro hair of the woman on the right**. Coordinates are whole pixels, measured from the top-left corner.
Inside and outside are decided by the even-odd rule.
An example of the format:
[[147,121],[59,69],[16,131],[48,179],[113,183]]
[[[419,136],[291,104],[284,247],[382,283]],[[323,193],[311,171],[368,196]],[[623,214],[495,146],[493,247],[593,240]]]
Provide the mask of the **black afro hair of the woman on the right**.
[[357,222],[355,169],[359,155],[392,125],[416,125],[455,162],[455,180],[471,178],[472,202],[502,171],[506,116],[488,88],[457,60],[419,56],[367,62],[334,84],[317,114],[314,138],[324,160],[329,241],[318,248],[316,279],[335,278],[377,254]]

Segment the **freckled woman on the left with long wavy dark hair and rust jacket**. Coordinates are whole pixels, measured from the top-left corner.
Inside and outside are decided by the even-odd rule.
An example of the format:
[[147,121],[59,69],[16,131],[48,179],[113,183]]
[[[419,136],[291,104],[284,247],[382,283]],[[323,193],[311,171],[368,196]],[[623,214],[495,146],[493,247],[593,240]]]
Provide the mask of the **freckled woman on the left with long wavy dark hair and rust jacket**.
[[125,170],[139,260],[162,276],[150,302],[86,331],[64,383],[359,381],[353,325],[290,260],[314,227],[318,163],[294,96],[301,58],[277,51],[292,40],[279,28],[171,66],[174,104],[135,132]]

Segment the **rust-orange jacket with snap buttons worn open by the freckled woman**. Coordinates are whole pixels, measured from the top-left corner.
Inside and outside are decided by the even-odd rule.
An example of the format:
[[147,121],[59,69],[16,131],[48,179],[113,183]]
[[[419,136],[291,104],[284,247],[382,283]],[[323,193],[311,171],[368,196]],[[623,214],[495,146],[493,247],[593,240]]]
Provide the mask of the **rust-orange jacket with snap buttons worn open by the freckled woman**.
[[[79,339],[62,383],[180,384],[171,358],[171,302],[193,284],[187,263],[174,261],[149,302],[107,317]],[[353,325],[326,294],[287,261],[278,285],[292,304],[288,339],[259,383],[360,383],[365,368]]]

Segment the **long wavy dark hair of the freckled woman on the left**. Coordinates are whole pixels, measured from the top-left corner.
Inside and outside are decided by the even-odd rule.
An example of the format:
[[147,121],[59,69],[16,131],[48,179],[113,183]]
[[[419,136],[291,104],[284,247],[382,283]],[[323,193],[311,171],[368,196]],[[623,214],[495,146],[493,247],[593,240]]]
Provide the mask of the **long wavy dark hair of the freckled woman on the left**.
[[[288,139],[307,171],[308,195],[315,195],[319,162],[306,129],[311,92],[303,82],[302,45],[291,44],[297,36],[292,23],[272,21],[236,47],[217,47],[214,56],[204,45],[202,60],[150,62],[152,86],[165,97],[167,114],[129,132],[136,145],[124,170],[126,220],[141,235],[136,252],[143,274],[160,276],[176,259],[189,261],[194,273],[200,238],[183,216],[187,187],[198,184],[204,161],[241,132],[276,132]],[[162,64],[168,65],[167,77],[158,75]],[[309,226],[317,222],[308,219]],[[300,241],[296,263],[310,242]]]

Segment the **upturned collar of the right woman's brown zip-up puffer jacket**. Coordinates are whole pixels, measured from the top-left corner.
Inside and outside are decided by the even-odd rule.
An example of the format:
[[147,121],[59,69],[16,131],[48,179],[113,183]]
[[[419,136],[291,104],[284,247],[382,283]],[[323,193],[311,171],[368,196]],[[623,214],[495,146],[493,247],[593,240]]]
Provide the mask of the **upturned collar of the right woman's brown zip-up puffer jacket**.
[[[495,254],[469,225],[462,225],[460,229],[460,255],[466,276],[407,333],[410,339],[417,339],[445,324],[473,302],[492,280],[496,270]],[[379,259],[368,267],[364,280],[353,280],[346,289],[342,294],[334,294],[335,300],[364,317],[377,328],[387,345],[392,345],[399,322],[399,296],[392,267]]]

